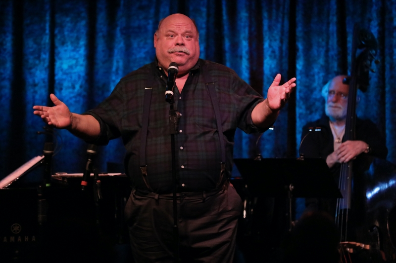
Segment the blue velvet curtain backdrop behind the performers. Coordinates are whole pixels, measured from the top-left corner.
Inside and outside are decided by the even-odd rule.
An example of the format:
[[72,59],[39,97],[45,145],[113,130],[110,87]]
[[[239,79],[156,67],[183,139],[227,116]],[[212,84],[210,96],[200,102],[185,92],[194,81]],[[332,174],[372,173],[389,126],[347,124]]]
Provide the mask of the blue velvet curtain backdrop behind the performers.
[[[377,73],[358,109],[386,135],[396,163],[396,0],[2,0],[0,1],[0,179],[42,154],[44,123],[33,105],[54,92],[83,113],[118,80],[154,59],[153,33],[171,13],[194,18],[201,58],[234,69],[261,94],[281,73],[297,92],[260,139],[264,157],[297,156],[301,127],[323,113],[320,89],[348,73],[353,24],[379,41]],[[54,171],[81,172],[87,144],[59,131]],[[252,157],[257,135],[236,133],[235,157]],[[122,162],[120,140],[100,149],[100,170]]]

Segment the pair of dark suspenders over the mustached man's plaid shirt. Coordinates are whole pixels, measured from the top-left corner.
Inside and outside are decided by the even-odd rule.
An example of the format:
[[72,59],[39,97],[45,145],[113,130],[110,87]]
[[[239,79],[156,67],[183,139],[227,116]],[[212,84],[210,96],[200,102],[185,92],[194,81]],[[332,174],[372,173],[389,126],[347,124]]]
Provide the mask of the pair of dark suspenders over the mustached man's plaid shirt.
[[[151,104],[151,93],[153,88],[154,76],[155,76],[155,67],[153,68],[153,76],[148,77],[146,80],[145,86],[145,97],[143,104],[143,117],[142,117],[142,133],[141,133],[141,142],[140,142],[140,169],[142,171],[143,180],[145,181],[146,187],[149,191],[153,192],[149,183],[148,183],[148,175],[147,175],[147,165],[146,165],[146,144],[147,144],[147,131],[148,131],[148,116],[150,112],[150,104]],[[220,115],[220,106],[219,100],[216,95],[215,84],[216,81],[211,81],[212,78],[208,73],[208,66],[204,65],[201,69],[201,73],[203,74],[203,79],[205,81],[205,85],[209,90],[210,100],[213,105],[214,115],[216,117],[216,125],[217,131],[220,139],[220,150],[221,150],[221,170],[219,181],[216,185],[216,188],[219,187],[222,183],[224,183],[225,175],[225,163],[226,163],[226,151],[223,139],[223,126],[221,125],[221,115]]]

